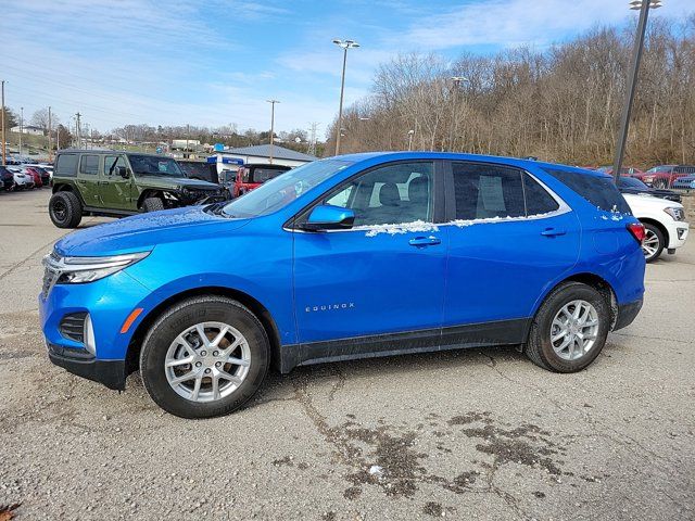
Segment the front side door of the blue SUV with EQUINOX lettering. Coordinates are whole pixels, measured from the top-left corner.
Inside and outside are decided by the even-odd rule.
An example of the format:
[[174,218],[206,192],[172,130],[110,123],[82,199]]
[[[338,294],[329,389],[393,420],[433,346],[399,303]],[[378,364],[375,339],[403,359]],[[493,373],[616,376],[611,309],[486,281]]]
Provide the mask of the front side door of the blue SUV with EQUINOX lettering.
[[447,239],[433,225],[441,204],[434,165],[392,163],[366,170],[318,202],[352,208],[352,229],[294,231],[300,343],[359,338],[363,348],[376,335],[404,333],[388,336],[397,351],[438,340]]

